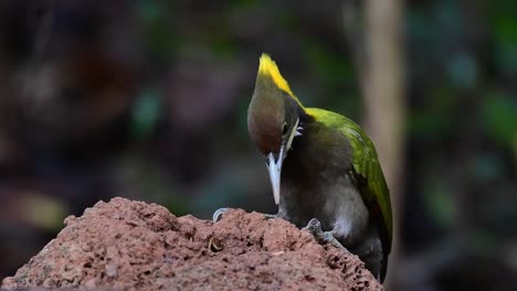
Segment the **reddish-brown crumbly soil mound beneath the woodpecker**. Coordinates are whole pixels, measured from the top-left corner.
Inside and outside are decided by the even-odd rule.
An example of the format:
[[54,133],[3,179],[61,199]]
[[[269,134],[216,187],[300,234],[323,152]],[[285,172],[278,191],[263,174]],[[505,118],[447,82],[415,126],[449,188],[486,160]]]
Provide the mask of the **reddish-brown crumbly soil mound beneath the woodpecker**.
[[65,224],[2,288],[382,290],[356,256],[258,213],[212,223],[114,198]]

